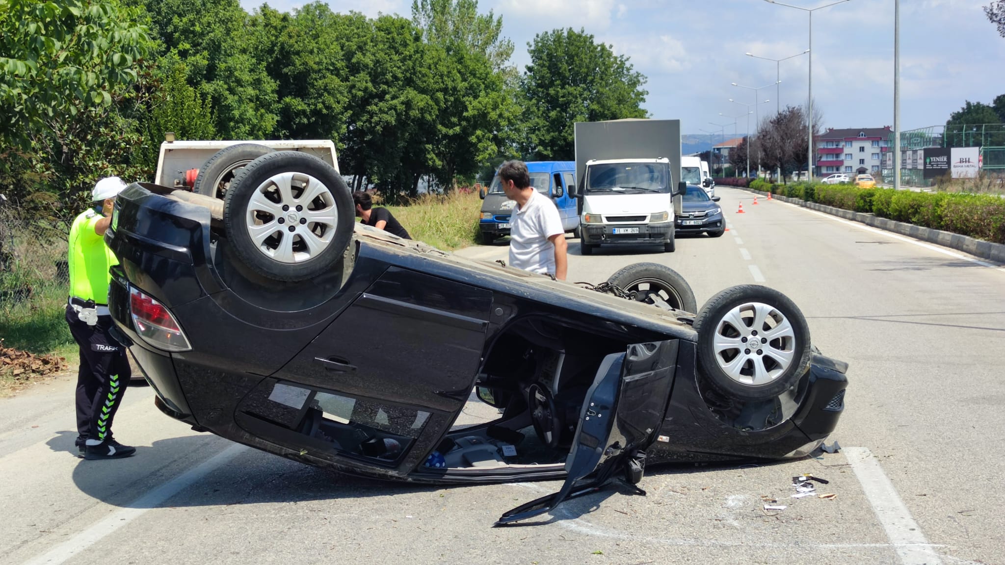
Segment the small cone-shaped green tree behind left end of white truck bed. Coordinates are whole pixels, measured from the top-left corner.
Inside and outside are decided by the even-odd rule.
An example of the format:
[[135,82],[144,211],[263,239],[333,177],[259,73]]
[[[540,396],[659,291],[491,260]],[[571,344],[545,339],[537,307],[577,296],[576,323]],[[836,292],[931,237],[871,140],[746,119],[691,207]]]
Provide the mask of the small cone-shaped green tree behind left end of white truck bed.
[[209,103],[202,100],[186,76],[185,64],[174,61],[167,80],[151,98],[150,115],[144,123],[144,143],[137,160],[146,171],[153,172],[157,168],[161,142],[167,132],[173,132],[178,140],[216,139]]

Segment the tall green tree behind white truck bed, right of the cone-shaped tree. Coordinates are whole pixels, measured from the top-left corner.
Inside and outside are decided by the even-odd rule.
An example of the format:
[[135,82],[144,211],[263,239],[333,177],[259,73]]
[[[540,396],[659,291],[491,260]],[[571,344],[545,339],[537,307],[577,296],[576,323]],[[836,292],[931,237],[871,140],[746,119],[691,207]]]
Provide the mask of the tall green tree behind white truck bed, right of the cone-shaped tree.
[[129,0],[150,13],[160,55],[185,63],[188,82],[215,110],[229,139],[267,139],[277,117],[276,83],[255,56],[254,19],[238,0]]

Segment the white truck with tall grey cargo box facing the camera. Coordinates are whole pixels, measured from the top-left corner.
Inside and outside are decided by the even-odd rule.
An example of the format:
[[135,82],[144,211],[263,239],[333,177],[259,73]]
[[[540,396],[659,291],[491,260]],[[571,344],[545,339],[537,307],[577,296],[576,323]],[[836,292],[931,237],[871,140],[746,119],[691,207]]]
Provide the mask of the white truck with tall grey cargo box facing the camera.
[[680,212],[679,120],[575,125],[577,208],[584,255],[600,245],[675,248]]

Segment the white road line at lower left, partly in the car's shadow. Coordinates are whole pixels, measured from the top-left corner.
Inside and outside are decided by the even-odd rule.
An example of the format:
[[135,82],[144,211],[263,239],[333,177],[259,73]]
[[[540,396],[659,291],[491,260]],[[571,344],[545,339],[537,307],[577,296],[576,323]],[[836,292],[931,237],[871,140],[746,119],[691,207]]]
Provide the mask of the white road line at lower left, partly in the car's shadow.
[[109,534],[139,518],[147,511],[157,508],[196,481],[199,481],[203,477],[209,475],[217,467],[222,466],[227,461],[243,452],[245,449],[247,449],[247,446],[234,443],[233,445],[206,459],[198,466],[190,468],[182,475],[179,475],[164,485],[154,489],[150,493],[147,493],[146,495],[133,501],[127,508],[114,512],[108,518],[96,522],[86,530],[57,545],[48,552],[35,557],[31,561],[27,561],[25,565],[56,565],[66,561],[67,559],[94,545]]

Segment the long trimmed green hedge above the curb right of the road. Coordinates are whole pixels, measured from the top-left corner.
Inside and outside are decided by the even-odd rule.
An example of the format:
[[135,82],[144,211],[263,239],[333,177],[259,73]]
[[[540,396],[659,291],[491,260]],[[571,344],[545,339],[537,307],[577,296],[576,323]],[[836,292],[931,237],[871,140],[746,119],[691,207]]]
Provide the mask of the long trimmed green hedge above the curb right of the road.
[[1005,198],[998,196],[807,182],[774,185],[761,179],[750,188],[1005,243]]

